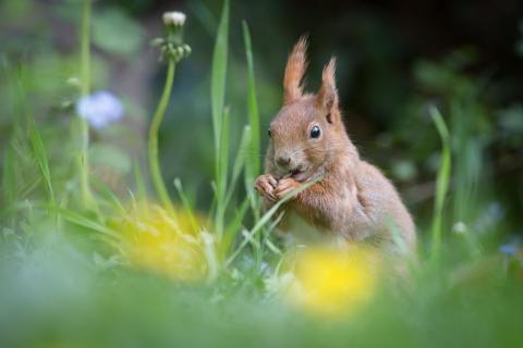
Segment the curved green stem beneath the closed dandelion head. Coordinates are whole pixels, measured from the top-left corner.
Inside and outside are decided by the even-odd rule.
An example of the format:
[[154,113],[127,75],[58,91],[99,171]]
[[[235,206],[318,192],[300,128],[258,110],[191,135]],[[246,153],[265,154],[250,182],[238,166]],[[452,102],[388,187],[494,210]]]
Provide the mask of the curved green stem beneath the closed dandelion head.
[[163,86],[163,92],[161,94],[160,102],[156,109],[155,115],[153,116],[153,123],[149,128],[149,169],[150,175],[153,177],[153,184],[155,185],[156,191],[159,196],[160,202],[169,211],[173,212],[174,208],[172,206],[169,194],[167,192],[166,184],[161,177],[160,165],[158,162],[158,130],[160,128],[161,120],[166,113],[167,105],[169,103],[169,97],[171,95],[172,82],[174,80],[174,59],[170,58],[168,62],[167,78],[166,85]]

